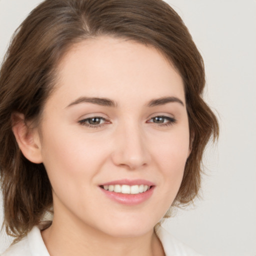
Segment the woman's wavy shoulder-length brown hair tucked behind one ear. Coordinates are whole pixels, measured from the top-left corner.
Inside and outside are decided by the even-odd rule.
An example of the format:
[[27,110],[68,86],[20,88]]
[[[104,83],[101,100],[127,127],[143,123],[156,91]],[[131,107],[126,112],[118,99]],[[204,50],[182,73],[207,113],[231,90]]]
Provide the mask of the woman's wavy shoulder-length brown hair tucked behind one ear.
[[162,0],[45,0],[16,30],[0,69],[0,175],[4,224],[10,235],[24,236],[52,205],[45,168],[22,155],[12,133],[11,113],[38,119],[60,58],[74,43],[98,35],[152,45],[182,76],[191,153],[175,204],[186,204],[198,193],[202,153],[210,137],[217,137],[218,123],[201,97],[201,55],[178,14]]

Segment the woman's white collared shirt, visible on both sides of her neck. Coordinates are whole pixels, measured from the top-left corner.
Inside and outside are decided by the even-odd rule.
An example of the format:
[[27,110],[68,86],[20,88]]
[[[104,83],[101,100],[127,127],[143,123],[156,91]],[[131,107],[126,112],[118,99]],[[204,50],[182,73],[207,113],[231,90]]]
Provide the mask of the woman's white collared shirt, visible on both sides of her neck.
[[[162,226],[156,230],[166,256],[200,256],[168,233]],[[42,240],[40,228],[34,226],[19,242],[11,245],[1,256],[50,256]]]

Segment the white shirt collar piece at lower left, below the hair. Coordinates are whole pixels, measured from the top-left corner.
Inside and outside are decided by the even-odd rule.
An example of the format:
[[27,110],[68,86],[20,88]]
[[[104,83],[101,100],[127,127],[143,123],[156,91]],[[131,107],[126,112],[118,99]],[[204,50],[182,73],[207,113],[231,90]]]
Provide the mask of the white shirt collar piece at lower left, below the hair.
[[40,227],[34,226],[22,240],[10,245],[0,256],[49,256]]

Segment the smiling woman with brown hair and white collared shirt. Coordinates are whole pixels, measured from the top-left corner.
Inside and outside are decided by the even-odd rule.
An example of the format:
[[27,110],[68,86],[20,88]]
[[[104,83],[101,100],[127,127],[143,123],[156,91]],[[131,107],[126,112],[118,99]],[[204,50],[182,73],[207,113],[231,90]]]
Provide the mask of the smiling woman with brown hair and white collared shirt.
[[3,255],[198,255],[157,224],[197,195],[218,134],[204,79],[163,1],[37,6],[0,71]]

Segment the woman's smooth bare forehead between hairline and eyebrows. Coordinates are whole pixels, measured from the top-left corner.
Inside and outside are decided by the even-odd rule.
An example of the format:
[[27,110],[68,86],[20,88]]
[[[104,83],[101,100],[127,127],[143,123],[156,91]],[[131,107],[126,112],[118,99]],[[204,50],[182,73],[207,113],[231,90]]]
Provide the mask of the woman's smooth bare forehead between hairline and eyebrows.
[[153,46],[131,40],[83,40],[66,52],[58,70],[54,93],[63,100],[94,96],[118,101],[124,95],[140,101],[168,95],[184,100],[182,78],[171,63]]

